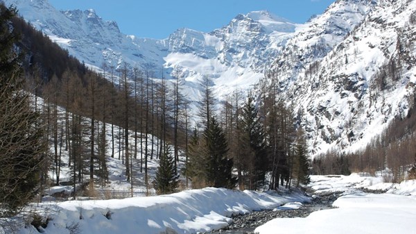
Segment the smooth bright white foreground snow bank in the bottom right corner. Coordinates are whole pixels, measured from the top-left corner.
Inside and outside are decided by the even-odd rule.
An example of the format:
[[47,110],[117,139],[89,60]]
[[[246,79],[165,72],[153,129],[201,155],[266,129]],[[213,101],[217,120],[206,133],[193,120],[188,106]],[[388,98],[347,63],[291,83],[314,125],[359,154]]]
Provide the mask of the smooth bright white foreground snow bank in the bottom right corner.
[[395,194],[354,194],[340,197],[337,209],[313,212],[306,218],[274,219],[256,228],[278,233],[415,233],[416,199]]

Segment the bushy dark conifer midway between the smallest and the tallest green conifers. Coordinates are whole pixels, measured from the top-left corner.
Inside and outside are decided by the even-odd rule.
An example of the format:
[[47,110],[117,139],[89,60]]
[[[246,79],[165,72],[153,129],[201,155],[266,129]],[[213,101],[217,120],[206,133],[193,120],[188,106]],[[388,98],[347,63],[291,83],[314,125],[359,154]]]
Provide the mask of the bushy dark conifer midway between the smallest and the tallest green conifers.
[[234,162],[231,158],[227,158],[227,139],[215,117],[209,119],[203,137],[205,140],[205,176],[207,184],[214,187],[234,188],[237,182],[237,179],[232,176]]

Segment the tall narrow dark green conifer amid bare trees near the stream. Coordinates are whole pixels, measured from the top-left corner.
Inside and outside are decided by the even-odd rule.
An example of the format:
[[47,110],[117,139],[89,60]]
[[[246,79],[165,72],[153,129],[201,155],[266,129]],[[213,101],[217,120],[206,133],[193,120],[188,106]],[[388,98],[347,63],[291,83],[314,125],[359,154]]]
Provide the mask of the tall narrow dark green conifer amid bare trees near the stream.
[[[241,114],[241,147],[243,155],[243,183],[250,190],[264,185],[268,158],[264,128],[254,100],[249,97]],[[241,178],[240,178],[241,179]]]

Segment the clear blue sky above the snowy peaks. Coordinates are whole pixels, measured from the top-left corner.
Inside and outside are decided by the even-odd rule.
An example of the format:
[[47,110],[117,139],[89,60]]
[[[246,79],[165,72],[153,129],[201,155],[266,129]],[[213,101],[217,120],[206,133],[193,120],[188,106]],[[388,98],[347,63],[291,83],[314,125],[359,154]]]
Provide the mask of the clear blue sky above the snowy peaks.
[[164,39],[177,28],[210,32],[239,13],[268,10],[296,23],[321,14],[335,0],[49,0],[58,10],[96,10],[122,33]]

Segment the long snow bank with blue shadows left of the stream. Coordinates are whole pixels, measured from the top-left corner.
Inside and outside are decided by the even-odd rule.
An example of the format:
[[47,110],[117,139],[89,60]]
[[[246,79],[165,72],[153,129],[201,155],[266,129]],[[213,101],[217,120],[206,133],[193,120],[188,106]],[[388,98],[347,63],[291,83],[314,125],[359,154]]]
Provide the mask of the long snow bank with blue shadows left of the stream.
[[[157,197],[135,197],[101,201],[44,203],[55,206],[44,233],[69,233],[78,224],[81,233],[197,233],[222,228],[231,215],[272,209],[284,203],[309,201],[301,194],[268,194],[218,188],[189,190]],[[25,228],[21,234],[32,229]]]

